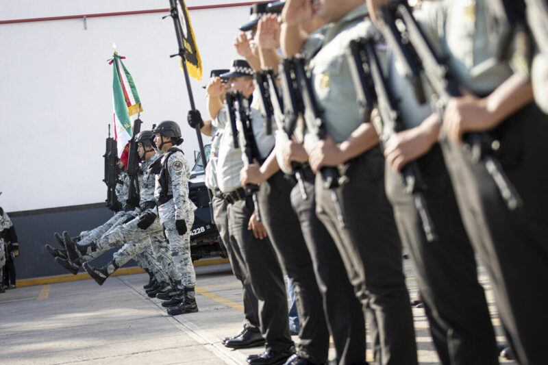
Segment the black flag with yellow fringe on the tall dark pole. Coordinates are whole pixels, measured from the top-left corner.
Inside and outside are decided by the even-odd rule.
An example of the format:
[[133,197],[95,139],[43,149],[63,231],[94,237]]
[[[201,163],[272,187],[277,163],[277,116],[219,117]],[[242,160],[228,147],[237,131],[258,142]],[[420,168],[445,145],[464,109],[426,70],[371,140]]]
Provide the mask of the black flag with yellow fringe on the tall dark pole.
[[[177,12],[176,16],[179,20],[180,27],[175,27],[177,38],[182,39],[184,46],[184,59],[186,60],[186,66],[188,68],[188,74],[198,81],[201,81],[202,67],[200,53],[196,45],[196,38],[192,31],[192,24],[190,23],[190,16],[188,16],[188,9],[184,3],[184,0],[173,0],[175,7],[173,10]],[[181,62],[183,60],[181,59]],[[181,64],[181,68],[183,65]]]

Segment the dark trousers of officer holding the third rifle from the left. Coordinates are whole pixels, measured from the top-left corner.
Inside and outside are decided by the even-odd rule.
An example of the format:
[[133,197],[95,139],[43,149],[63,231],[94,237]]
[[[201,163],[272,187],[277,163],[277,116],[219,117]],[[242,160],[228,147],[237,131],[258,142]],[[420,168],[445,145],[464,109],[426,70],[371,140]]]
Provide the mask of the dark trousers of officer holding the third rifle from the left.
[[349,181],[336,190],[346,227],[336,218],[331,192],[316,175],[316,214],[338,246],[347,275],[364,306],[376,364],[416,364],[413,318],[401,241],[384,190],[379,147],[353,159]]

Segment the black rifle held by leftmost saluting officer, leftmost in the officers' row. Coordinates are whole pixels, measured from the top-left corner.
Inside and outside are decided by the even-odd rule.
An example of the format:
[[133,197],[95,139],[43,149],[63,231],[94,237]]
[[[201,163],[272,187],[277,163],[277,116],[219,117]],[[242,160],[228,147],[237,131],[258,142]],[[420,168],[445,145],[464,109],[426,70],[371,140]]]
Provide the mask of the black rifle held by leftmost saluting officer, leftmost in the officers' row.
[[[234,147],[240,147],[244,165],[253,164],[253,160],[260,160],[261,156],[257,148],[253,128],[251,127],[251,116],[249,115],[249,99],[242,95],[242,92],[236,91],[226,95],[230,125],[232,126],[232,138],[234,138]],[[238,138],[240,140],[238,141]],[[257,192],[259,186],[256,184],[247,184],[245,192],[247,196],[253,199],[255,216],[257,221],[261,221],[259,212],[259,203]]]

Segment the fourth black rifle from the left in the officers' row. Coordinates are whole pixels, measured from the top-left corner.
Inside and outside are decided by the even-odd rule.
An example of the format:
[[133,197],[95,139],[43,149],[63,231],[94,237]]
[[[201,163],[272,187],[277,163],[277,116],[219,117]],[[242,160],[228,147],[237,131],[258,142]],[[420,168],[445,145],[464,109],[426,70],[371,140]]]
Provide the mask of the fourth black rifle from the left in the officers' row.
[[[402,129],[401,116],[394,106],[394,97],[382,74],[374,41],[371,38],[352,40],[347,56],[358,95],[358,104],[364,105],[361,107],[364,111],[370,111],[373,106],[376,106],[379,111],[380,118],[374,118],[372,123],[379,135],[381,147],[384,149],[386,142]],[[366,118],[368,117],[364,116],[364,121]],[[413,196],[426,239],[428,242],[435,241],[438,238],[436,229],[434,229],[423,194],[426,185],[416,161],[408,162],[406,166],[403,166],[400,175],[406,192]]]

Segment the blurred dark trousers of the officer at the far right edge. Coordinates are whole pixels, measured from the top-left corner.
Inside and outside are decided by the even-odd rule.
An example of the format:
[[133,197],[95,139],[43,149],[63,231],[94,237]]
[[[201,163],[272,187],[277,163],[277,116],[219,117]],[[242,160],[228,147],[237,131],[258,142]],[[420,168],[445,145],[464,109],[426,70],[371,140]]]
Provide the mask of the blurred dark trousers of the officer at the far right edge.
[[548,116],[528,105],[491,132],[503,170],[521,195],[510,211],[484,164],[442,144],[462,221],[486,264],[499,314],[520,364],[546,364],[548,323]]

